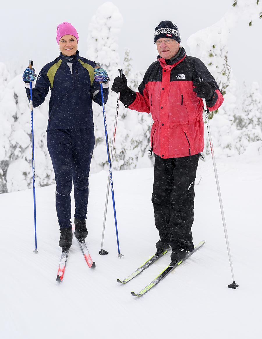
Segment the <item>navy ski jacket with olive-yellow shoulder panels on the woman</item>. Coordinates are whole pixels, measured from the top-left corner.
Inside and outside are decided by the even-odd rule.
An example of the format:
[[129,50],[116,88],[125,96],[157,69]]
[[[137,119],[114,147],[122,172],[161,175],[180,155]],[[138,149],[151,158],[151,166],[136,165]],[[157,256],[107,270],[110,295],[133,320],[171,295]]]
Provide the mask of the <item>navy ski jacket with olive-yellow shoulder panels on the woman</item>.
[[[93,61],[80,57],[77,51],[71,57],[60,53],[57,59],[42,68],[32,89],[32,99],[33,107],[41,105],[51,89],[47,131],[94,129],[92,101],[102,105],[100,83],[94,81],[94,67]],[[26,93],[29,99],[29,88]],[[103,88],[103,93],[106,103],[108,88]]]

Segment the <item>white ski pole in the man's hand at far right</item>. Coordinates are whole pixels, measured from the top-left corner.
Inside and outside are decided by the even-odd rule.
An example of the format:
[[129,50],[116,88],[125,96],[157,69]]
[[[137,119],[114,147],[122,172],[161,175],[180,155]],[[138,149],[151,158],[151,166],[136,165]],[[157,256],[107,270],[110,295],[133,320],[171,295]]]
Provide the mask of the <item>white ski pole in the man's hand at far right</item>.
[[[200,80],[201,80],[201,79],[200,79]],[[208,120],[208,112],[207,112],[207,107],[206,107],[206,99],[205,99],[205,98],[202,98],[202,100],[203,100],[204,111],[205,111],[205,116],[206,116],[207,133],[208,133],[209,144],[210,144],[210,150],[211,150],[211,155],[212,155],[212,160],[213,160],[213,166],[214,166],[214,172],[215,172],[215,177],[216,177],[217,191],[218,191],[218,197],[219,197],[219,203],[220,203],[220,210],[221,210],[221,215],[222,215],[222,220],[223,220],[223,226],[224,226],[224,232],[225,232],[225,238],[226,238],[226,246],[227,246],[228,258],[229,258],[230,267],[231,267],[231,273],[232,273],[232,278],[233,278],[233,283],[232,283],[232,284],[229,284],[227,287],[229,287],[229,288],[234,288],[234,290],[235,290],[239,285],[236,284],[235,278],[234,278],[234,273],[233,273],[233,265],[232,265],[232,260],[231,260],[231,255],[230,255],[230,248],[229,248],[229,242],[228,242],[228,236],[227,236],[227,230],[226,230],[226,221],[225,221],[225,216],[224,216],[224,210],[223,210],[223,204],[222,204],[221,193],[220,193],[220,187],[219,187],[219,181],[218,181],[218,174],[217,174],[217,166],[216,166],[216,160],[215,160],[215,155],[214,155],[213,142],[212,142],[211,131],[210,131],[210,126],[209,126],[209,120]]]

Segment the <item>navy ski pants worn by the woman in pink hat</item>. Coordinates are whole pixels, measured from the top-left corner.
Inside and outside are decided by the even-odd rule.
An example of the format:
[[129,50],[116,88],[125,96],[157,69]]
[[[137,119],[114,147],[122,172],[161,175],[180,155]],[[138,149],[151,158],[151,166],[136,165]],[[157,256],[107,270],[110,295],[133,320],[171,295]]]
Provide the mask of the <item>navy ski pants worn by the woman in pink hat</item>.
[[71,225],[72,180],[75,215],[86,219],[89,195],[89,171],[95,145],[93,129],[52,129],[46,142],[56,180],[56,212],[60,230]]

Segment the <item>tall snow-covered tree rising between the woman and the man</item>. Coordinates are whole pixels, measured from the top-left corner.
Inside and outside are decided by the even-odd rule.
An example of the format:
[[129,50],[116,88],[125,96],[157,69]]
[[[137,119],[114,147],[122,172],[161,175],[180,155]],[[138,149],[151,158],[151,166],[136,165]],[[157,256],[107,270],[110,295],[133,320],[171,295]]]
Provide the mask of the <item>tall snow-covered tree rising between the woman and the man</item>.
[[[98,7],[97,12],[92,17],[88,27],[88,50],[86,52],[86,58],[99,62],[101,67],[106,69],[108,76],[111,79],[111,84],[114,78],[119,75],[118,68],[120,58],[118,54],[117,35],[120,32],[122,23],[123,18],[119,13],[118,8],[111,2],[106,2]],[[105,105],[109,145],[112,143],[116,102],[117,95],[109,89],[109,96]],[[97,172],[104,168],[104,166],[105,168],[108,166],[102,107],[93,104],[93,115],[96,143],[91,162],[91,171]],[[117,129],[118,140],[120,129],[119,123]],[[109,148],[111,151],[110,146]]]

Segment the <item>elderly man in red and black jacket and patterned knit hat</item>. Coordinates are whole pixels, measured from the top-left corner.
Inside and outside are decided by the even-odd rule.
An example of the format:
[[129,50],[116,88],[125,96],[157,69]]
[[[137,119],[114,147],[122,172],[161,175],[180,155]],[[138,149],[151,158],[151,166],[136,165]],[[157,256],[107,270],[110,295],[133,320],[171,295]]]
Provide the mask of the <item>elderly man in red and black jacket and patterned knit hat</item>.
[[204,63],[180,47],[178,28],[161,21],[155,29],[157,61],[147,69],[139,92],[127,86],[123,75],[112,91],[121,92],[126,107],[151,113],[151,152],[155,155],[152,202],[161,253],[170,245],[176,263],[194,250],[194,183],[204,149],[203,101],[214,111],[223,102],[218,84]]

